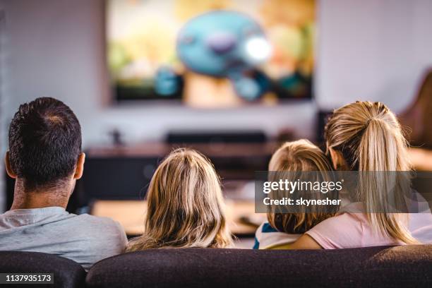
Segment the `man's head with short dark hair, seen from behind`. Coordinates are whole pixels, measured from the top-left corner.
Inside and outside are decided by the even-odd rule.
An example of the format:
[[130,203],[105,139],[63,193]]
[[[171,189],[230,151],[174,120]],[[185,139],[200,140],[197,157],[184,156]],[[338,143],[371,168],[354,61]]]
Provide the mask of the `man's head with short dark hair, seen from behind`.
[[20,105],[9,127],[6,170],[24,191],[70,186],[83,174],[84,156],[80,123],[66,104],[42,97]]

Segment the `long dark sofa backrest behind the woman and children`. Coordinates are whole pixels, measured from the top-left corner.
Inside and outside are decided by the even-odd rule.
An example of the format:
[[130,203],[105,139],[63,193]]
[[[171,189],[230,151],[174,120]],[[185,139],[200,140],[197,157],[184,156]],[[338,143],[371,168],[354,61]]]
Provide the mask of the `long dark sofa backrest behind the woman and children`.
[[160,249],[96,263],[88,287],[432,287],[432,245],[315,251]]

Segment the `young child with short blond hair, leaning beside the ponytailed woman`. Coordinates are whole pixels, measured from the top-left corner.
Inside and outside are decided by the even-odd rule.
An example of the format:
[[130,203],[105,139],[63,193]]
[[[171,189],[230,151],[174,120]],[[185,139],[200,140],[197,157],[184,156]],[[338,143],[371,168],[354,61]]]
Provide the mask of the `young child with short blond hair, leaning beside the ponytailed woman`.
[[[329,179],[329,173],[332,171],[330,162],[323,151],[320,150],[316,145],[313,145],[308,140],[297,140],[294,142],[284,143],[276,152],[272,155],[272,159],[268,165],[269,180],[274,178],[280,173],[287,175],[294,175],[294,172],[318,172],[314,173],[318,181],[325,181]],[[273,174],[272,174],[273,173]],[[282,179],[282,178],[281,178]],[[296,178],[297,179],[297,178]],[[290,179],[295,181],[296,179]],[[298,191],[297,193],[303,193],[296,195],[296,197],[307,197],[308,199],[321,199],[329,197],[329,194],[324,193],[308,193]],[[330,195],[330,198],[334,197]],[[298,239],[301,234],[311,229],[319,222],[332,217],[336,214],[339,207],[323,206],[323,205],[312,205],[308,209],[300,209],[296,212],[283,213],[277,212],[273,208],[268,212],[268,222],[264,222],[256,230],[255,245],[254,249],[265,249],[265,248],[283,248],[285,244],[290,244]],[[270,208],[271,209],[271,208]]]

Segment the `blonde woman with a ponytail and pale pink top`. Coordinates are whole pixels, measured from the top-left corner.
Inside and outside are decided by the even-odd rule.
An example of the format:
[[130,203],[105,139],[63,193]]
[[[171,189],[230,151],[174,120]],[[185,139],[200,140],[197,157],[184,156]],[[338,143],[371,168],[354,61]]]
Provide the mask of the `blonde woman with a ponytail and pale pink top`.
[[[325,127],[325,139],[335,169],[410,170],[407,141],[395,114],[383,103],[355,102],[336,109]],[[387,196],[382,189],[376,188],[373,181],[359,183],[359,187],[361,203],[353,205],[356,208],[360,205],[364,212],[349,212],[345,208],[347,212],[316,225],[289,248],[331,249],[432,241],[430,210],[418,214],[380,212],[388,211],[383,209]]]

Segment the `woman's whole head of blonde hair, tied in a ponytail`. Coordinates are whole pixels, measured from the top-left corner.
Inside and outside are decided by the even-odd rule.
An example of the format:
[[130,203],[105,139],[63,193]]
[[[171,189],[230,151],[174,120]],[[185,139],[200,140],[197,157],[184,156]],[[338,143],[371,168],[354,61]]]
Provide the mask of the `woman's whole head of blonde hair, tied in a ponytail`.
[[[336,109],[325,126],[327,150],[340,152],[351,171],[374,172],[359,177],[357,195],[364,203],[368,220],[376,232],[407,244],[418,243],[408,231],[407,215],[388,212],[389,203],[404,202],[402,188],[387,193],[376,172],[410,171],[407,140],[402,128],[385,104],[355,102]],[[407,173],[408,174],[408,173]],[[395,187],[402,187],[402,174],[395,174]],[[402,175],[402,176],[401,176]],[[392,198],[392,199],[391,199]]]

